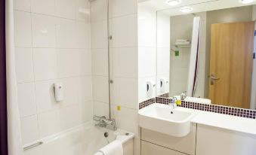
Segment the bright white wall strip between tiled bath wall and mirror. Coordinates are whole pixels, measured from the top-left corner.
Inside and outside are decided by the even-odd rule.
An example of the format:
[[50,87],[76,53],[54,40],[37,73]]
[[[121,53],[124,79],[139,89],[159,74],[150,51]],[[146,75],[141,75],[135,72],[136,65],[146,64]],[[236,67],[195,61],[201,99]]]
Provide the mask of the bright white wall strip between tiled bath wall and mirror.
[[138,5],[138,93],[139,102],[156,97],[147,96],[147,81],[156,84],[156,10]]

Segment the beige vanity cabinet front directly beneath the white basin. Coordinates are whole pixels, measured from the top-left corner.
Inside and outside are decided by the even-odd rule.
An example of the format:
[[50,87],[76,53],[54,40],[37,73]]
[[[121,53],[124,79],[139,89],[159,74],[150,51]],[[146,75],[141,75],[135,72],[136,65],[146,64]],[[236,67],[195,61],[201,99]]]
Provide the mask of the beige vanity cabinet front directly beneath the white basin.
[[[156,150],[153,150],[156,148]],[[184,137],[174,137],[149,129],[141,129],[141,155],[195,154],[196,123],[192,123],[190,133]],[[161,153],[160,153],[161,152]]]

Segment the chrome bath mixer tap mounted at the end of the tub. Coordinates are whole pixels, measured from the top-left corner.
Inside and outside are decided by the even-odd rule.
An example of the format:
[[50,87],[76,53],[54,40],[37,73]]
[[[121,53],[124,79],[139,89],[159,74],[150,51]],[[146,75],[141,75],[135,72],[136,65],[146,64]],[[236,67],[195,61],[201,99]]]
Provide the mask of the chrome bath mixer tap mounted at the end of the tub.
[[109,128],[116,131],[116,120],[115,119],[107,119],[105,116],[99,117],[94,115],[95,126],[99,126],[102,128]]

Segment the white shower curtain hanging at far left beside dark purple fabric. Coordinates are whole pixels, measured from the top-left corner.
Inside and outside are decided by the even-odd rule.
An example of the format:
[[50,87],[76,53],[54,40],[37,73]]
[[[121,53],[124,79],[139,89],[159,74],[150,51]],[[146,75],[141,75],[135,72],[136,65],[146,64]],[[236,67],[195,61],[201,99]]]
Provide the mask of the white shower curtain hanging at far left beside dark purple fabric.
[[[6,42],[6,91],[8,116],[8,155],[22,155],[23,147],[20,133],[20,114],[17,102],[17,80],[15,73],[14,53],[14,9],[13,0],[0,0],[1,14],[5,14],[5,42]],[[2,154],[1,155],[5,155]],[[7,154],[6,154],[7,155]]]

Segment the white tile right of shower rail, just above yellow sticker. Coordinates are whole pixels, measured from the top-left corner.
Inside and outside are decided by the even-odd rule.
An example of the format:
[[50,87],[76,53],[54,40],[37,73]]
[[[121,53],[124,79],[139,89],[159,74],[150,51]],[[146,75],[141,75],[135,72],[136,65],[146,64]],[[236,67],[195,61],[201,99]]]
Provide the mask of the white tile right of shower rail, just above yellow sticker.
[[114,78],[113,103],[137,109],[137,79]]

